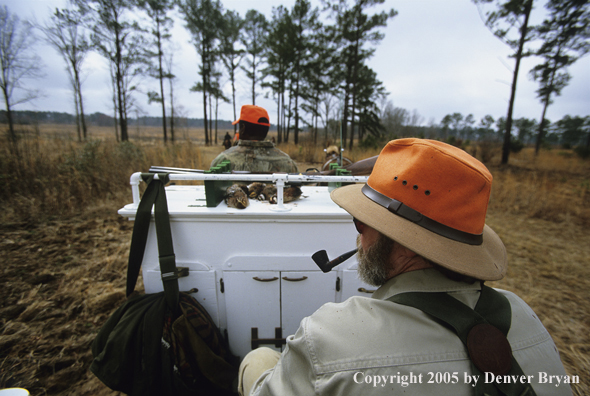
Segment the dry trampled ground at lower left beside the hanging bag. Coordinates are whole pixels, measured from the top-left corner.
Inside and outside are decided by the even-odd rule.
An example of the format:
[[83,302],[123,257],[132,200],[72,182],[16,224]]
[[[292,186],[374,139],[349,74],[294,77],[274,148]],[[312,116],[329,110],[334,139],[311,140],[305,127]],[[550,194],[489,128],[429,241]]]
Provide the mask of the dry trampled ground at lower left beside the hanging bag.
[[87,371],[96,332],[125,298],[132,223],[101,208],[0,227],[0,388],[113,394]]

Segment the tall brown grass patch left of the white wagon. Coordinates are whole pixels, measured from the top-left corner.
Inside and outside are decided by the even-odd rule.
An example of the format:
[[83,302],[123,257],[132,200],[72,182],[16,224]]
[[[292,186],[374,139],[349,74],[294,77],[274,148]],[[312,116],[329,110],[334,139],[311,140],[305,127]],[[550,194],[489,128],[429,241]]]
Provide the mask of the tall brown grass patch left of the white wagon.
[[[201,168],[200,149],[182,144],[78,143],[34,136],[0,149],[0,220],[36,221],[76,213],[89,204],[128,198],[129,177],[150,165]],[[125,197],[125,198],[123,198]]]

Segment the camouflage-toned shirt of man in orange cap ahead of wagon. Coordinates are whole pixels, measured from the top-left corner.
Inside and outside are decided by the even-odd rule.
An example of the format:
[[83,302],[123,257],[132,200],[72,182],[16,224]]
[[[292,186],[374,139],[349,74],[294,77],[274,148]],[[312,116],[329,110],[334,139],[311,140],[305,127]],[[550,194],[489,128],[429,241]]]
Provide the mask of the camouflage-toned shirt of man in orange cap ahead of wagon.
[[238,145],[219,154],[211,163],[216,166],[230,160],[232,170],[252,173],[296,173],[297,164],[287,154],[277,149],[272,142],[239,140]]

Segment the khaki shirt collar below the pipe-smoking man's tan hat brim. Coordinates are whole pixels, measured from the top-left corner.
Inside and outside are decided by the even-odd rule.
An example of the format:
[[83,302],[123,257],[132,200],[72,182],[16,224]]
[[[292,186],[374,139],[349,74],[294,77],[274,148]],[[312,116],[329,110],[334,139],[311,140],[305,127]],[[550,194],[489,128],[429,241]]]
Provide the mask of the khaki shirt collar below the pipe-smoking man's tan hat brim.
[[434,268],[404,272],[385,282],[373,298],[388,299],[405,292],[454,292],[463,290],[481,290],[480,282],[466,283],[447,278]]

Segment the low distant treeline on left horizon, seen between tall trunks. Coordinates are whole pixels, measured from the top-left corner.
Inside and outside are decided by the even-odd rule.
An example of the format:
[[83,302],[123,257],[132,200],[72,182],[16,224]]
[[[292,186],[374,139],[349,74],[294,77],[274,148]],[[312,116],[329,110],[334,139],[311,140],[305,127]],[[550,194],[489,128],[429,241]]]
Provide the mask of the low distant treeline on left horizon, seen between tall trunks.
[[[13,111],[13,120],[16,124],[20,125],[35,125],[35,124],[65,124],[65,125],[76,125],[76,116],[57,112],[57,111]],[[142,126],[162,126],[162,117],[137,117],[129,118],[129,125],[142,125]],[[115,125],[117,120],[109,115],[96,112],[93,114],[86,115],[87,125],[93,126],[105,126],[110,127]],[[178,125],[189,128],[203,128],[204,120],[202,118],[187,118],[187,117],[176,117],[175,121]],[[5,110],[0,110],[0,124],[8,124],[8,117]],[[233,129],[231,121],[218,120],[217,126],[219,129]]]

